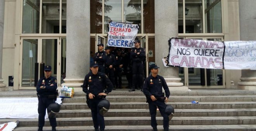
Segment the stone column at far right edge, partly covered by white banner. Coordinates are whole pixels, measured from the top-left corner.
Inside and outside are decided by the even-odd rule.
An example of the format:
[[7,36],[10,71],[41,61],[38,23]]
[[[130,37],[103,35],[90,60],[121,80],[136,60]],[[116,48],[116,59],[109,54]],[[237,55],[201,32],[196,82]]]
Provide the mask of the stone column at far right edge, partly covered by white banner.
[[[239,0],[240,40],[256,40],[256,0]],[[239,89],[256,90],[256,71],[242,70]]]

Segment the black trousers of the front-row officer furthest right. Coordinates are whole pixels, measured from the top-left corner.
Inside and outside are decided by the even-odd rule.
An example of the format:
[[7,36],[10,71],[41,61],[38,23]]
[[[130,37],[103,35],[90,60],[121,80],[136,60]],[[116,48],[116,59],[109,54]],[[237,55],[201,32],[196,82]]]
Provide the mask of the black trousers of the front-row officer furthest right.
[[164,118],[163,121],[163,126],[164,126],[164,131],[168,131],[169,129],[169,116],[164,112],[166,104],[164,103],[164,101],[149,101],[149,113],[151,116],[151,126],[152,128],[156,128],[157,123],[156,123],[156,108],[158,107],[161,115]]

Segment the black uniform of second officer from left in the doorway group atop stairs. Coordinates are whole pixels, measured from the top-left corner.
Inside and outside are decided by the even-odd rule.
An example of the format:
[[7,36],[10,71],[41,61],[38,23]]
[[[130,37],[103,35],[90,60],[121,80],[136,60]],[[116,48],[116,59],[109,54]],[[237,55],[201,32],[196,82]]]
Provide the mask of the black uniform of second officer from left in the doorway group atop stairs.
[[[115,81],[114,81],[114,60],[115,56],[111,53],[106,54],[106,75],[109,77],[110,81],[112,82],[113,86],[115,87]],[[109,68],[109,66],[112,65],[112,68]]]

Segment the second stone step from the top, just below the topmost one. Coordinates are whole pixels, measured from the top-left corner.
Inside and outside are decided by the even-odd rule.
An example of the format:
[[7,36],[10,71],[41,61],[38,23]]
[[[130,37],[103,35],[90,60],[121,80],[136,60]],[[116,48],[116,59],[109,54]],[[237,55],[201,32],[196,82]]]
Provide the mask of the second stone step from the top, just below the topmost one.
[[[109,102],[145,102],[145,96],[107,96]],[[85,102],[85,96],[64,98],[63,103]],[[256,101],[256,95],[226,95],[226,96],[170,96],[169,102],[234,102],[234,101]]]

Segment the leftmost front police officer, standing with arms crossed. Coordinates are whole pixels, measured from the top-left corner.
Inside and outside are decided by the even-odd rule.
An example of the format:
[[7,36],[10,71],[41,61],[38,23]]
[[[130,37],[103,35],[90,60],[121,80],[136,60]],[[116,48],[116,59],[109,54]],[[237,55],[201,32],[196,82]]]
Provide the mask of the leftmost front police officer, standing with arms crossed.
[[[38,94],[38,131],[43,131],[43,126],[45,125],[45,113],[47,107],[55,102],[57,97],[57,79],[52,77],[52,67],[44,67],[45,77],[39,79],[36,85],[36,91]],[[56,131],[56,118],[49,118],[50,125],[52,126],[52,131]]]

